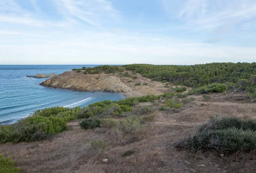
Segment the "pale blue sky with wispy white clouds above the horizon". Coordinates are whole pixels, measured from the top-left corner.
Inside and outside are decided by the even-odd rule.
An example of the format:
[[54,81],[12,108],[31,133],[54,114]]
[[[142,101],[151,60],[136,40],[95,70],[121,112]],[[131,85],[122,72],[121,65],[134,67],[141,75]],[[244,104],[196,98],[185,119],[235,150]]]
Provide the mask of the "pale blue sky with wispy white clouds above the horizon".
[[255,0],[0,0],[0,64],[255,60]]

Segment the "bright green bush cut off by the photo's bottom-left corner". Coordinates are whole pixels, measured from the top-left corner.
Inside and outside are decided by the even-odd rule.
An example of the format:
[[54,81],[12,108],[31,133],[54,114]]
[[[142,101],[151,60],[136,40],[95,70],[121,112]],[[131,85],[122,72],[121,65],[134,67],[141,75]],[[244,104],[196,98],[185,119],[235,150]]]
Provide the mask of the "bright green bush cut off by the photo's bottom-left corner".
[[0,155],[0,173],[19,173],[20,168],[14,166],[15,162],[11,157],[4,158],[4,155]]

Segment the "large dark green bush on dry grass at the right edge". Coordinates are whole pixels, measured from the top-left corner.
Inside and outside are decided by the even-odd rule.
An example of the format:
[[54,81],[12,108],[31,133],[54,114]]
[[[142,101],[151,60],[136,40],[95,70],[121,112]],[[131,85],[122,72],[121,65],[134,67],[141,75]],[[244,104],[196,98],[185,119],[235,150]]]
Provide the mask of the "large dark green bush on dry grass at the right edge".
[[176,147],[191,151],[249,152],[256,149],[256,121],[214,117],[201,125],[194,135],[180,140]]

